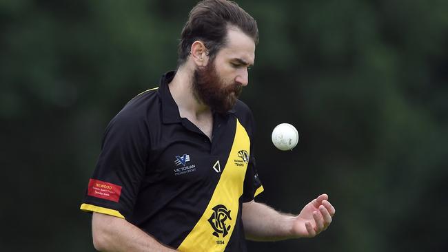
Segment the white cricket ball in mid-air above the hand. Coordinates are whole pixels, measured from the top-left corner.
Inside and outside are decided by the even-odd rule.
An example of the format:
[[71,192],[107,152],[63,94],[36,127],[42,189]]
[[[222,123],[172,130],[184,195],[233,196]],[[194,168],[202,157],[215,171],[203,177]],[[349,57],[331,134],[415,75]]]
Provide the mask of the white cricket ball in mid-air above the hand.
[[282,151],[296,147],[298,143],[297,129],[289,123],[281,123],[272,131],[272,143]]

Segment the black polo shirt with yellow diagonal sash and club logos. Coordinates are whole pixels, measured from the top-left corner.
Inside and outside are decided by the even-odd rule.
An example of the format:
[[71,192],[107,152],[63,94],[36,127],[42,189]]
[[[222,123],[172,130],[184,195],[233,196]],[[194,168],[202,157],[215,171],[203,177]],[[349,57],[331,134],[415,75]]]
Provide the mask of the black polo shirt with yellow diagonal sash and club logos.
[[241,204],[263,191],[252,113],[237,101],[214,114],[210,141],[179,116],[174,74],[110,121],[81,210],[125,218],[179,251],[246,251]]

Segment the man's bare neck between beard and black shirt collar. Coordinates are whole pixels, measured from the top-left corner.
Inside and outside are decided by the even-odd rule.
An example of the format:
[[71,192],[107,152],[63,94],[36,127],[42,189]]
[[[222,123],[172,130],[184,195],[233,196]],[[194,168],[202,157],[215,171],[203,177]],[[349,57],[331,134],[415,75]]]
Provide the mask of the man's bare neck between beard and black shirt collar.
[[177,70],[168,88],[179,107],[181,117],[194,117],[194,120],[201,120],[203,116],[209,116],[212,113],[210,107],[200,103],[194,97],[192,78],[193,70],[183,65]]

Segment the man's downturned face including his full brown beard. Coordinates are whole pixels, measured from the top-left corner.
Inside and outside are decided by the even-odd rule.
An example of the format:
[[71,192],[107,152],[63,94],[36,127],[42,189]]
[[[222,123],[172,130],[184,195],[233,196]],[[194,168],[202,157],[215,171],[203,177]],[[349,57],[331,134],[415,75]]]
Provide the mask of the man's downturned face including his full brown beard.
[[247,68],[253,65],[254,59],[254,40],[231,28],[227,33],[227,45],[219,50],[213,61],[194,71],[194,96],[215,112],[232,109],[248,83]]

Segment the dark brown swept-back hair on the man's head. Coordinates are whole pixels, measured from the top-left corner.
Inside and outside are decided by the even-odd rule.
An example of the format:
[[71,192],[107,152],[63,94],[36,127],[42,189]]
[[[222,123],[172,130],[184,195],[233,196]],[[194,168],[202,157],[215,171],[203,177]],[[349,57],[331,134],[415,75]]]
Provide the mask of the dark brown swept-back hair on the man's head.
[[234,1],[203,0],[190,11],[179,43],[178,65],[182,65],[190,54],[194,41],[203,41],[210,59],[225,45],[230,25],[239,28],[258,43],[258,28],[250,14]]

